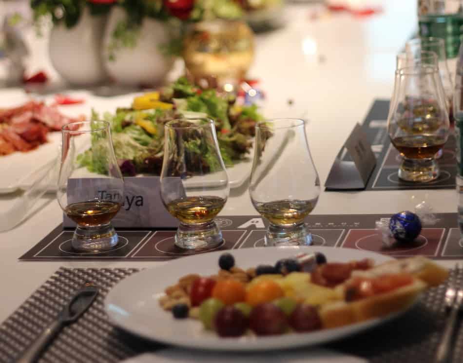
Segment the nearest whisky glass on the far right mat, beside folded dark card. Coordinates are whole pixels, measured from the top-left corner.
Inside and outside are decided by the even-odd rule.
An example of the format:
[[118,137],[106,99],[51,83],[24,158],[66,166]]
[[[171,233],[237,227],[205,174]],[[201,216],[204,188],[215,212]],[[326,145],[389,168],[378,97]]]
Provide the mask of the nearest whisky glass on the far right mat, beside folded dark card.
[[426,183],[439,177],[435,154],[447,142],[449,119],[436,67],[417,64],[396,71],[387,128],[403,157],[400,179]]

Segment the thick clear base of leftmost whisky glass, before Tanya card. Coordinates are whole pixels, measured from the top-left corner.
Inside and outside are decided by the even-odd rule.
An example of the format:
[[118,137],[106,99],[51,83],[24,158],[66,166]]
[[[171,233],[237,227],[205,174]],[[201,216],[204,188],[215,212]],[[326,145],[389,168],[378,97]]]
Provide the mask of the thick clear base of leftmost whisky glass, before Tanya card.
[[82,252],[101,252],[114,248],[118,237],[111,223],[98,226],[79,226],[74,231],[72,248]]

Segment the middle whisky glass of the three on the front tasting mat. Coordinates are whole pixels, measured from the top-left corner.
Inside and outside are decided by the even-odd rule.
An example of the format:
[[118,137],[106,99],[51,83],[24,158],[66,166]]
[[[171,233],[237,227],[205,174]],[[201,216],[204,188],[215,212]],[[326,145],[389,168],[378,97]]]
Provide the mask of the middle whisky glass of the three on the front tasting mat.
[[214,218],[230,187],[212,119],[181,118],[165,125],[160,180],[164,206],[180,221],[175,245],[205,249],[222,243]]

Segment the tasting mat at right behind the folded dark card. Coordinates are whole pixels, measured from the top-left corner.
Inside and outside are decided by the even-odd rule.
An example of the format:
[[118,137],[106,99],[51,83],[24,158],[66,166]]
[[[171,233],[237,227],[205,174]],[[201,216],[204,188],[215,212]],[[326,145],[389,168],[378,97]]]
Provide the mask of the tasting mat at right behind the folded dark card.
[[[441,168],[439,178],[429,183],[405,182],[400,180],[397,175],[402,157],[389,140],[387,133],[388,112],[389,101],[375,100],[363,123],[363,131],[367,134],[376,156],[376,167],[368,179],[365,190],[454,189],[457,159],[455,153],[456,139],[453,132],[444,146],[442,157],[437,160]],[[348,155],[341,160],[350,161]]]

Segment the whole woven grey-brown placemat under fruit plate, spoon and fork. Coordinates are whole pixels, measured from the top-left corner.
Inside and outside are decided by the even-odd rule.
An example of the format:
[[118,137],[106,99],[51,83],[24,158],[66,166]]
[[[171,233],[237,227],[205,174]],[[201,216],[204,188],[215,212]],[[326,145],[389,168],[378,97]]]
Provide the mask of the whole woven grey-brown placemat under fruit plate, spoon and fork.
[[[101,294],[77,323],[64,328],[40,363],[113,363],[159,349],[163,345],[140,340],[113,327],[103,310],[108,291],[137,271],[134,268],[61,267],[0,326],[0,362],[15,362],[19,353],[55,319],[63,304],[86,282],[101,287]],[[452,273],[458,273],[459,280],[463,281],[462,269]],[[374,363],[433,362],[445,322],[445,288],[443,285],[428,291],[419,305],[402,317],[328,347]],[[453,362],[459,362],[463,354],[462,328],[456,342]]]

